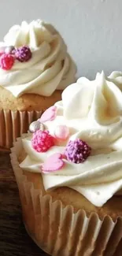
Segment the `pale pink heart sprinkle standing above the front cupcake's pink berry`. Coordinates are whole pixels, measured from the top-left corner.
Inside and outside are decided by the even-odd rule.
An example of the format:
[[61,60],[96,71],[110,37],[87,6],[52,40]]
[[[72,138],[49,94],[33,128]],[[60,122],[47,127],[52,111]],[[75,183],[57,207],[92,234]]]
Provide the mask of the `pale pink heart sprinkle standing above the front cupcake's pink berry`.
[[46,121],[53,121],[54,118],[56,117],[56,106],[50,106],[49,109],[46,109],[46,111],[43,113],[43,115],[40,117],[39,121],[42,123]]

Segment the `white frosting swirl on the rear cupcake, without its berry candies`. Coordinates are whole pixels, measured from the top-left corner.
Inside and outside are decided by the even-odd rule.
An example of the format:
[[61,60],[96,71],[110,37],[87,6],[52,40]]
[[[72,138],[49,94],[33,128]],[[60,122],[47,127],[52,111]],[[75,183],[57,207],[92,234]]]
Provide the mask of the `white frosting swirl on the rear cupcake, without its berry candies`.
[[1,86],[15,97],[24,93],[50,96],[75,81],[76,65],[61,35],[50,24],[33,20],[30,24],[23,21],[21,25],[14,25],[0,48],[11,45],[28,45],[32,53],[29,61],[15,61],[8,71],[0,69]]

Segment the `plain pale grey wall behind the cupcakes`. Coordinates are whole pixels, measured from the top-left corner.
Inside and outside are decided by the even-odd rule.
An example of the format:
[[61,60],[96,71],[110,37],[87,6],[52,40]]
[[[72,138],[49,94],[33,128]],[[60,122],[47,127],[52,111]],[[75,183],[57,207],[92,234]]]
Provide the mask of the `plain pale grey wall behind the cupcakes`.
[[0,9],[1,40],[13,24],[41,18],[61,32],[78,76],[122,70],[122,0],[0,0]]

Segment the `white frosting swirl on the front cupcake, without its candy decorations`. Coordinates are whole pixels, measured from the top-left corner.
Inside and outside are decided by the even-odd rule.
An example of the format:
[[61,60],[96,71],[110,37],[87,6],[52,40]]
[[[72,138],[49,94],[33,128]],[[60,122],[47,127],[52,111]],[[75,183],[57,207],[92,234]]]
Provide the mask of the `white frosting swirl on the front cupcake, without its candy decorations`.
[[80,164],[64,160],[61,170],[42,174],[43,184],[46,190],[71,187],[102,206],[122,188],[122,92],[102,72],[94,81],[79,78],[63,91],[56,106],[57,117],[47,121],[46,128],[54,135],[58,124],[66,124],[69,138],[46,153],[36,152],[30,137],[23,139],[28,156],[20,167],[40,173],[40,163],[51,154],[63,153],[69,139],[83,139],[92,148],[91,156]]

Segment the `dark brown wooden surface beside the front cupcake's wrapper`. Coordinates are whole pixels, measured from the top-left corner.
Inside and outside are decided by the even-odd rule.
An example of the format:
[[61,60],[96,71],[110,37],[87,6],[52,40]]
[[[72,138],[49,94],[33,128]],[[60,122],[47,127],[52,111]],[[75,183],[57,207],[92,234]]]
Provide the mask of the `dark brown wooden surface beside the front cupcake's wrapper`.
[[47,256],[25,231],[8,152],[0,152],[0,256]]

